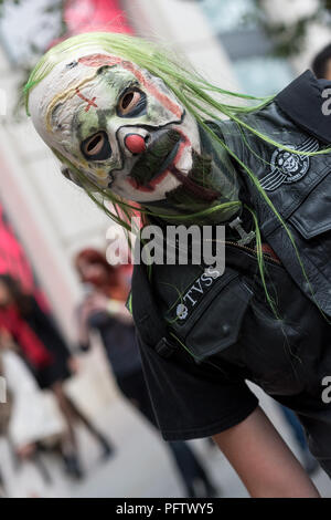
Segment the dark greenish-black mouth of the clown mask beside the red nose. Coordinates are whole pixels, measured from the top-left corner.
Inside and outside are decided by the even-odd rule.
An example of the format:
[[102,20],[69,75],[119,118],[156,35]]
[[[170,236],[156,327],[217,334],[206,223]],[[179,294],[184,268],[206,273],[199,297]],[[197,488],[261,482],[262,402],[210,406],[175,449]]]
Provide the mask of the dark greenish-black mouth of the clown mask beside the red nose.
[[130,178],[137,188],[148,185],[162,175],[174,160],[180,148],[182,135],[170,129],[154,139],[135,164]]

